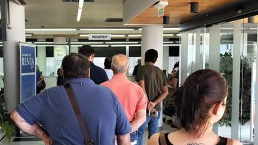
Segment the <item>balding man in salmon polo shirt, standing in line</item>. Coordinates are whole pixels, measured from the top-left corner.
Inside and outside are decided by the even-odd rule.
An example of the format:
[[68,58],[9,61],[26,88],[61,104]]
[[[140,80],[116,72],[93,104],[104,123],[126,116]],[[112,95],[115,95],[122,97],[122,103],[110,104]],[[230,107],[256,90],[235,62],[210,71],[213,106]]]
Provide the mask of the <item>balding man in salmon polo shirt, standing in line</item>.
[[132,125],[131,145],[137,145],[139,143],[138,128],[146,122],[147,102],[142,88],[126,77],[128,68],[129,58],[126,55],[113,56],[111,69],[114,76],[100,85],[110,88],[116,94]]

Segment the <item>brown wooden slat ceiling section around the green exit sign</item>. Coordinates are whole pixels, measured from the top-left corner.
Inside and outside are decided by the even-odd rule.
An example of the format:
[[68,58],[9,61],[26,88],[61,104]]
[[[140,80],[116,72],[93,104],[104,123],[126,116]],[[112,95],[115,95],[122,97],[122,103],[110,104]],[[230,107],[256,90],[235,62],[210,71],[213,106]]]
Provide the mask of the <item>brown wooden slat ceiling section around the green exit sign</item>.
[[[169,16],[170,24],[179,24],[196,15],[210,12],[226,4],[239,0],[163,0],[168,1],[164,16]],[[198,14],[190,13],[190,2],[199,2]],[[163,18],[158,18],[158,9],[152,5],[128,24],[162,24]]]

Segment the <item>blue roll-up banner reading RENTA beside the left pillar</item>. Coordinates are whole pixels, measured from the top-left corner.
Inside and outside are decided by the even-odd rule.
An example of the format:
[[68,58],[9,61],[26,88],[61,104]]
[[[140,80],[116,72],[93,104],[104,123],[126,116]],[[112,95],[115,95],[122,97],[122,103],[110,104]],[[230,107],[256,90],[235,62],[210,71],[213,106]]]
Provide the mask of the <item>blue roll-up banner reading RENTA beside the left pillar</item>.
[[21,102],[36,95],[36,47],[20,43]]

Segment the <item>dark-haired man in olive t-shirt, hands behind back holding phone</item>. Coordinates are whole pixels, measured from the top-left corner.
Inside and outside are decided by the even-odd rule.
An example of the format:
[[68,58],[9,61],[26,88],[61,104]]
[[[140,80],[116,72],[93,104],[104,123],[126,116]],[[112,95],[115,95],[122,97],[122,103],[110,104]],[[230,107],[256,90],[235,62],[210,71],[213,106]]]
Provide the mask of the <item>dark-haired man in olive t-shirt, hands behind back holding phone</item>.
[[[139,145],[143,144],[142,138],[147,125],[149,138],[158,132],[160,110],[162,110],[161,101],[168,95],[167,77],[161,69],[154,66],[157,58],[158,52],[156,50],[147,50],[145,52],[145,65],[140,66],[137,72],[136,80],[146,93],[148,100],[146,122],[138,129]],[[158,116],[149,116],[149,110],[157,111]]]

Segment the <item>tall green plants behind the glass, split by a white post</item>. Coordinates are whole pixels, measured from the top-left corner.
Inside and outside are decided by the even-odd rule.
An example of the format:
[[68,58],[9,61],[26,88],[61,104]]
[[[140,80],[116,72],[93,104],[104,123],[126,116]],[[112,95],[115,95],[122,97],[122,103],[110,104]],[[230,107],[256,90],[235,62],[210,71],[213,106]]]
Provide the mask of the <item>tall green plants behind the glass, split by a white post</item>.
[[[222,120],[220,120],[220,126],[231,127],[231,114],[232,114],[232,75],[233,75],[233,58],[230,52],[220,54],[220,73],[228,81],[228,99],[227,99],[227,111]],[[240,59],[240,94],[239,94],[239,122],[241,125],[245,125],[250,121],[250,104],[251,104],[251,77],[252,68],[249,64],[249,60],[246,57]]]

